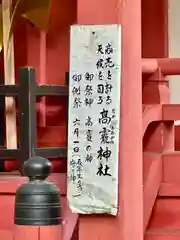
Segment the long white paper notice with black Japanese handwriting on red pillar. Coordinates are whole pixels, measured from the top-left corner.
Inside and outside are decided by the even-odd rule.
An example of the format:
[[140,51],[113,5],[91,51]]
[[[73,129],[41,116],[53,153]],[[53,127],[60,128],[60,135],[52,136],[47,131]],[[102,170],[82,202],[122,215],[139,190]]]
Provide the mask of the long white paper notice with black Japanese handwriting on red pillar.
[[71,27],[68,201],[73,212],[117,214],[121,26]]

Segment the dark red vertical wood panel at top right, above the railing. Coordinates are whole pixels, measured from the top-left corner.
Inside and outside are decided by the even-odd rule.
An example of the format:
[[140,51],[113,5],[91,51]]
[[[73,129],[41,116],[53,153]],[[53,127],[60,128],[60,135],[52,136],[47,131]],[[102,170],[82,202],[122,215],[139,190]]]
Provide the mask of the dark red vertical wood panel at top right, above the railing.
[[168,57],[168,1],[142,0],[142,57]]

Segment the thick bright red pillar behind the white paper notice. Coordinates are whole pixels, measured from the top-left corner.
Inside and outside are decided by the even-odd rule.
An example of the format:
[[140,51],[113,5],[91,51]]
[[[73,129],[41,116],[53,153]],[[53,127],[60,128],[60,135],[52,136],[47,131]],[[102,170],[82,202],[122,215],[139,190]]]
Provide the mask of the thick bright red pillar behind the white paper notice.
[[80,240],[142,240],[141,0],[77,0],[77,24],[122,23],[119,212],[80,216]]

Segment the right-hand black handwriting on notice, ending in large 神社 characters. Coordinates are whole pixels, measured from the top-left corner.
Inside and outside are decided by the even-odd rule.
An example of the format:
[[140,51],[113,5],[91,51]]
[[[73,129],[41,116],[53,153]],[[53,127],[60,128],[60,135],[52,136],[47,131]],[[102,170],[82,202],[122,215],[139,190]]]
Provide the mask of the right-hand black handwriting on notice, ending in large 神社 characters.
[[[100,111],[100,117],[98,119],[102,129],[99,131],[100,148],[97,150],[97,159],[99,160],[99,167],[96,172],[98,176],[112,176],[109,161],[111,159],[111,144],[114,144],[115,128],[112,124],[112,120],[115,118],[115,109],[110,112],[112,104],[112,68],[115,64],[112,60],[114,49],[111,43],[105,45],[98,44],[97,46],[98,60],[96,62],[96,68],[98,71],[97,84],[97,104],[107,108],[102,108]],[[111,114],[111,115],[110,115]],[[105,161],[104,161],[105,160]]]

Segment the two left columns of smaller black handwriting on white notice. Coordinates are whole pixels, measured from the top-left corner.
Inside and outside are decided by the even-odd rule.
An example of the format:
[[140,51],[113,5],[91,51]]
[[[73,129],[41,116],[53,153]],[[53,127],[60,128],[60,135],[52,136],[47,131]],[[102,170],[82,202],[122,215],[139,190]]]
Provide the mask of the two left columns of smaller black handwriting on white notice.
[[[82,107],[91,107],[93,104],[93,84],[92,81],[94,79],[94,73],[83,72],[76,73],[72,75],[73,87],[72,87],[72,96],[73,96],[73,108],[74,109],[82,109]],[[84,81],[84,88],[82,88],[81,82]],[[76,185],[77,188],[77,196],[82,194],[83,191],[83,161],[81,155],[81,142],[80,142],[80,129],[82,128],[80,119],[76,118],[73,121],[73,136],[75,140],[73,140],[73,154],[72,159],[70,160],[70,168],[71,174],[69,180]],[[86,157],[85,162],[91,163],[93,160],[93,156],[91,154],[91,144],[92,144],[92,121],[91,117],[88,116],[85,122],[85,125],[88,127],[86,130],[86,141],[88,142],[86,146]]]

